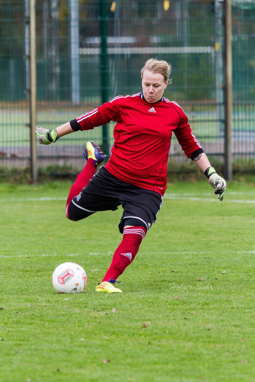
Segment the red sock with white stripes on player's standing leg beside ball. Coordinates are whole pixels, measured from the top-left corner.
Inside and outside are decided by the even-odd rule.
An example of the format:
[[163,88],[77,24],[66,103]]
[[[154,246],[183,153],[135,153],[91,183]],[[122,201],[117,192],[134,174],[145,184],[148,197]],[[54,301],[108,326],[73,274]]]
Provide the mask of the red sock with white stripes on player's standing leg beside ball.
[[116,249],[112,263],[102,281],[109,281],[110,278],[116,280],[124,272],[135,258],[145,235],[146,230],[143,227],[124,227],[122,242]]

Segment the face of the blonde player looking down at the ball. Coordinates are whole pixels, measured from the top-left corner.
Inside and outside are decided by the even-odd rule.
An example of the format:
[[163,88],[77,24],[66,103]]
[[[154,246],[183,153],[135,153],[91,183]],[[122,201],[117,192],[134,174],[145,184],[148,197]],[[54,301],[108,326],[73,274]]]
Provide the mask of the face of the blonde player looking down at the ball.
[[143,72],[142,87],[143,95],[147,102],[153,104],[161,99],[167,82],[164,81],[164,76],[161,73],[152,73],[149,70]]

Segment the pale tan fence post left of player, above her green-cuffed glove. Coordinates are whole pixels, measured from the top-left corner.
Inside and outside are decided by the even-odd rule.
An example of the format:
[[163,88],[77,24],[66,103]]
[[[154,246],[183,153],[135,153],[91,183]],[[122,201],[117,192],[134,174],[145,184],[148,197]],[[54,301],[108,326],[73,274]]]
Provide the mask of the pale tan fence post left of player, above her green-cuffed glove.
[[29,112],[30,112],[30,160],[32,183],[37,183],[36,128],[36,4],[30,0],[29,8]]

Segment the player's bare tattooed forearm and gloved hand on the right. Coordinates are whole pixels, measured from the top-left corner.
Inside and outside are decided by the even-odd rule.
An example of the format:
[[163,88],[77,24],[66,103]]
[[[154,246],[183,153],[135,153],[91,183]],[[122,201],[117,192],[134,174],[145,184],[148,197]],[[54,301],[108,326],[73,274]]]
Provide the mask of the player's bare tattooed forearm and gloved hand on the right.
[[195,159],[196,165],[204,172],[208,178],[210,185],[214,188],[214,194],[218,195],[218,199],[223,201],[223,197],[226,190],[226,180],[219,176],[211,163],[209,162],[206,154],[202,152]]

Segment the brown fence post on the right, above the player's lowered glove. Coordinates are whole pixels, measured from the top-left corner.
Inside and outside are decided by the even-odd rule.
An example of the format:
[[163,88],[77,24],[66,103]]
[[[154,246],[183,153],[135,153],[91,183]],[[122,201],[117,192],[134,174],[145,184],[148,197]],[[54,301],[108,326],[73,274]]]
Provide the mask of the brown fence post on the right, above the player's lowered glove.
[[224,1],[224,75],[225,75],[225,176],[232,180],[232,15],[231,0]]

